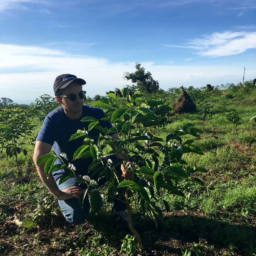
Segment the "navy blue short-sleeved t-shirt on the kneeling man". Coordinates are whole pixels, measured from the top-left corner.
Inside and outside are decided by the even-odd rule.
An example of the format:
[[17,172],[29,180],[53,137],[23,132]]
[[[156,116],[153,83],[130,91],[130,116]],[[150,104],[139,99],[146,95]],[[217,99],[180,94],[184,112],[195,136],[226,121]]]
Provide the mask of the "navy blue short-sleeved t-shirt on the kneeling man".
[[[92,163],[93,158],[88,157],[72,161],[75,151],[82,145],[84,138],[79,138],[72,141],[69,140],[70,137],[77,132],[77,130],[84,130],[84,128],[85,130],[88,130],[88,125],[90,122],[80,121],[84,116],[93,116],[99,120],[104,117],[104,111],[100,108],[83,105],[80,118],[73,120],[67,117],[63,107],[57,108],[45,117],[41,130],[36,138],[38,141],[52,145],[52,149],[57,155],[61,154],[62,152],[66,153],[69,163],[73,163],[73,165],[76,167],[76,173],[79,175],[87,174],[88,167]],[[110,122],[100,121],[100,124],[102,127],[112,127]],[[99,137],[99,133],[99,130],[93,128],[88,132],[88,135]],[[57,160],[55,163],[61,162]],[[52,175],[55,180],[57,180],[58,177],[65,172],[68,171],[61,169],[53,172]]]

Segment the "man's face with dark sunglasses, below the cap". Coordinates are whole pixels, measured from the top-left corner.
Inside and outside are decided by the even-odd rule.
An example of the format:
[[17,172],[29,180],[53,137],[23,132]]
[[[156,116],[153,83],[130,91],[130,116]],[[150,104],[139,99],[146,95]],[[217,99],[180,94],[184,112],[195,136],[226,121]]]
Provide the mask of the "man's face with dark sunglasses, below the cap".
[[[64,89],[63,96],[68,96],[69,94],[78,94],[82,91],[82,86],[78,82],[71,83],[68,87]],[[72,119],[72,117],[76,118],[77,115],[82,111],[82,107],[84,105],[84,99],[80,99],[80,97],[77,95],[76,100],[73,102],[70,102],[70,100],[67,97],[55,97],[57,102],[62,104],[65,113],[68,117]]]

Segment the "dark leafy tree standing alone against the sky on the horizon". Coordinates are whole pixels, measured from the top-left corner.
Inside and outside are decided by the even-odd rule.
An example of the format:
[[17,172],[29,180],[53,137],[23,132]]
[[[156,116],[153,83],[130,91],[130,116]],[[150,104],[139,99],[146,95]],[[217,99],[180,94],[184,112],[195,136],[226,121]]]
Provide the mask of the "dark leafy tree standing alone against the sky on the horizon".
[[137,69],[134,73],[124,73],[124,79],[131,80],[133,83],[137,83],[137,89],[141,92],[155,93],[159,89],[159,82],[154,80],[151,73],[145,68],[140,67],[140,63],[136,62],[135,68]]

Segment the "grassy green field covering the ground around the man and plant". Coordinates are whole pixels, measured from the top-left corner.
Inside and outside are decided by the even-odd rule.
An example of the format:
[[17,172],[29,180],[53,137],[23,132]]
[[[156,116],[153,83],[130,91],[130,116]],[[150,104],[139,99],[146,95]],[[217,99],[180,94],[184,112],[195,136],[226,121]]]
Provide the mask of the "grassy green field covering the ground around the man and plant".
[[[231,86],[211,92],[188,92],[196,105],[203,102],[201,111],[174,112],[169,116],[171,123],[152,132],[164,139],[188,122],[201,129],[194,144],[204,155],[188,153],[183,159],[191,166],[207,169],[194,176],[205,186],[192,186],[185,197],[166,194],[170,210],[163,210],[158,227],[139,204],[134,204],[133,218],[144,245],[143,251],[137,250],[134,255],[181,256],[188,248],[191,255],[196,255],[194,246],[207,256],[254,256],[256,158],[254,144],[249,147],[244,138],[256,135],[255,124],[250,121],[256,116],[256,90]],[[156,95],[170,106],[178,96],[179,93],[163,91]],[[230,113],[236,113],[240,121],[229,121]],[[29,121],[36,125],[31,134],[35,137],[42,120],[35,115]],[[97,215],[91,212],[87,223],[70,225],[38,177],[32,161],[34,146],[28,141],[26,136],[19,141],[25,143],[20,148],[27,151],[26,155],[23,151],[17,155],[19,172],[15,157],[7,158],[5,149],[0,150],[0,255],[121,255],[126,234],[111,224],[112,205],[105,201]],[[163,204],[159,207],[164,209]]]

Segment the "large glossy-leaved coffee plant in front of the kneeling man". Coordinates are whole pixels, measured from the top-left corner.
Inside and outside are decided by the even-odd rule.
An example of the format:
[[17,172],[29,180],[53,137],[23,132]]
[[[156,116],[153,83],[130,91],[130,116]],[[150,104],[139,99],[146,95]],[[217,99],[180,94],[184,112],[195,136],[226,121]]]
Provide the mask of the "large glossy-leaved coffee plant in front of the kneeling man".
[[[189,136],[199,138],[200,129],[188,123],[179,131],[172,131],[164,139],[159,134],[151,134],[150,129],[156,125],[161,125],[160,114],[168,114],[173,109],[163,104],[159,99],[147,100],[139,91],[128,96],[128,88],[122,89],[122,98],[117,100],[113,93],[108,94],[108,98],[102,98],[94,104],[96,107],[105,109],[104,121],[111,122],[113,128],[102,128],[99,120],[86,116],[82,122],[90,122],[88,131],[93,128],[101,132],[99,138],[89,137],[88,131],[77,131],[70,140],[84,138],[84,143],[78,148],[73,156],[73,160],[93,157],[93,163],[89,166],[88,175],[76,175],[76,169],[65,154],[57,156],[54,152],[40,157],[37,164],[45,163],[45,173],[48,176],[51,172],[59,169],[67,169],[69,173],[61,176],[60,183],[70,177],[78,177],[80,183],[84,183],[87,188],[81,192],[79,203],[83,201],[87,193],[90,193],[90,204],[94,212],[98,212],[102,207],[104,196],[112,202],[116,195],[119,198],[124,196],[127,206],[129,227],[134,234],[140,250],[143,244],[137,230],[132,226],[132,206],[139,204],[142,211],[148,215],[157,225],[163,221],[162,209],[159,203],[163,203],[165,210],[169,212],[170,206],[164,199],[168,194],[184,196],[185,192],[190,192],[195,183],[204,186],[202,180],[193,177],[195,172],[207,172],[206,169],[198,166],[189,166],[183,159],[186,153],[203,155],[200,148],[193,145],[194,140]],[[113,140],[111,134],[118,134],[120,140]],[[182,139],[186,137],[186,139]],[[115,148],[108,154],[108,145]],[[108,155],[121,153],[123,159],[111,161]],[[55,164],[56,159],[60,159],[62,164]],[[131,180],[123,180],[116,172],[116,166],[120,161],[123,166],[132,160],[135,169],[126,167],[126,171],[133,172]],[[93,176],[99,172],[99,180],[106,177],[108,186],[104,192],[99,191],[98,181],[93,180]]]

